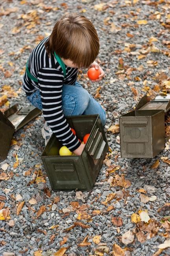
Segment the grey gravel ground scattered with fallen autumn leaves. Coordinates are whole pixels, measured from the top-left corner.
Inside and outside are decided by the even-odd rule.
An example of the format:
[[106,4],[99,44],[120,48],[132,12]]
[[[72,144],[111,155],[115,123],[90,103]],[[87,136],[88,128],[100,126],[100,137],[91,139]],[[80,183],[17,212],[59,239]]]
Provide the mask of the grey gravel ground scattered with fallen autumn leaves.
[[[170,158],[169,138],[166,137],[166,149],[155,159],[120,158],[118,134],[107,132],[107,129],[118,123],[119,115],[133,109],[141,95],[147,91],[149,94],[157,93],[163,81],[168,81],[170,5],[168,0],[119,0],[109,3],[105,0],[2,0],[0,96],[7,93],[9,101],[2,109],[15,103],[19,106],[28,105],[21,90],[27,58],[31,49],[50,34],[56,20],[65,12],[83,13],[97,29],[100,38],[98,62],[105,71],[105,78],[100,83],[91,83],[84,70],[78,79],[92,95],[96,95],[97,88],[101,86],[100,98],[97,100],[107,111],[105,132],[112,152],[108,154],[92,191],[83,192],[81,199],[78,199],[76,191],[51,190],[40,157],[44,148],[41,135],[43,117],[37,117],[16,132],[6,160],[0,163],[0,173],[7,174],[7,179],[0,181],[0,195],[5,197],[0,209],[9,209],[5,220],[0,221],[0,255],[54,255],[60,248],[67,247],[65,255],[69,256],[105,256],[112,252],[113,244],[126,250],[124,254],[112,255],[153,255],[158,250],[157,246],[168,239],[170,230],[160,224],[161,219],[169,215],[169,207],[164,204],[169,202],[170,167],[160,159]],[[139,24],[139,20],[147,20],[148,23]],[[163,74],[166,76],[164,80]],[[3,91],[6,88],[4,85],[10,85],[14,91]],[[159,89],[156,89],[157,85]],[[156,160],[159,160],[159,166],[151,168]],[[124,174],[131,186],[124,189],[118,185],[112,186],[116,174],[111,173],[113,177],[108,177],[106,169],[113,164],[120,166],[116,174]],[[44,175],[46,182],[31,184],[38,171],[39,176]],[[137,191],[142,188],[148,197],[156,196],[156,200],[142,202],[141,193]],[[118,193],[118,199],[109,201],[107,205],[102,204],[107,195],[113,192]],[[21,205],[23,201],[24,206],[17,214],[18,204]],[[75,207],[75,203],[71,202],[78,204]],[[46,210],[36,218],[43,205]],[[132,243],[125,245],[122,235],[129,229],[134,234],[139,231],[137,224],[131,222],[131,215],[139,210],[147,210],[153,223],[159,223],[160,226],[157,231],[152,230],[151,238],[147,236],[143,243],[135,235],[134,241],[132,239]],[[79,213],[85,215],[80,220]],[[113,217],[122,219],[120,227],[113,224]],[[65,229],[75,221],[90,227],[74,226],[66,232]],[[49,229],[53,225],[58,226]],[[79,246],[86,236],[90,244]],[[95,236],[100,241],[94,242]],[[63,240],[63,237],[67,238]],[[66,242],[62,245],[62,241]],[[105,251],[100,246],[104,246]],[[160,255],[170,255],[170,248],[164,249]]]

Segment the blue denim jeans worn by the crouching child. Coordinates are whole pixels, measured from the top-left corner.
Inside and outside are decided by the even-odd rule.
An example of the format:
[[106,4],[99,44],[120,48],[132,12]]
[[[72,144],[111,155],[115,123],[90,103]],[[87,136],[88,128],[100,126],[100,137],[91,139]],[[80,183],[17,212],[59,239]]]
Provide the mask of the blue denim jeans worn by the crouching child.
[[[103,126],[106,123],[105,110],[78,82],[74,85],[63,85],[63,115],[94,115],[99,114]],[[42,109],[40,91],[36,90],[27,99],[36,108]]]

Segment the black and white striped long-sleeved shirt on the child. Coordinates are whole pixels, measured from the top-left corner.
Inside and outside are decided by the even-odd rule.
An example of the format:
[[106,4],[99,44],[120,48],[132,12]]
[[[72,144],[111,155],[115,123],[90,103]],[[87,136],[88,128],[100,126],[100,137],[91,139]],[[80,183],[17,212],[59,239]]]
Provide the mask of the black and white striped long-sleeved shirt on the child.
[[63,145],[74,151],[80,146],[78,138],[70,130],[62,110],[63,84],[74,84],[77,78],[77,69],[66,66],[66,76],[54,55],[48,56],[44,43],[49,37],[44,38],[30,54],[28,70],[38,82],[31,80],[24,73],[22,89],[26,95],[31,95],[36,90],[40,91],[42,113],[52,132]]

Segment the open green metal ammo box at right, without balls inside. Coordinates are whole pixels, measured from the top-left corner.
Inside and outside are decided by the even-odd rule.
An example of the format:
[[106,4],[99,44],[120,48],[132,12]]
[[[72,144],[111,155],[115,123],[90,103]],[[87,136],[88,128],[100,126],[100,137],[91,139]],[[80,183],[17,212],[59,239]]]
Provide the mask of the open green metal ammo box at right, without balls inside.
[[164,114],[170,95],[143,96],[134,111],[119,117],[122,158],[154,158],[165,146]]

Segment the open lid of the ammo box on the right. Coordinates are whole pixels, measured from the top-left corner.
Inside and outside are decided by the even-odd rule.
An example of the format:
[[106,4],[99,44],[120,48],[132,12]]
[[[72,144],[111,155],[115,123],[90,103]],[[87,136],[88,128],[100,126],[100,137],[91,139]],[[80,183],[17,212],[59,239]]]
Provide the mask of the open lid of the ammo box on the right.
[[154,100],[150,100],[148,96],[143,96],[138,102],[135,110],[152,110],[152,109],[163,109],[164,112],[170,110],[170,95],[161,96],[158,95]]

